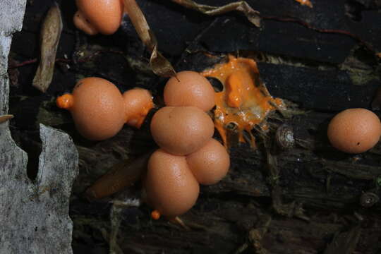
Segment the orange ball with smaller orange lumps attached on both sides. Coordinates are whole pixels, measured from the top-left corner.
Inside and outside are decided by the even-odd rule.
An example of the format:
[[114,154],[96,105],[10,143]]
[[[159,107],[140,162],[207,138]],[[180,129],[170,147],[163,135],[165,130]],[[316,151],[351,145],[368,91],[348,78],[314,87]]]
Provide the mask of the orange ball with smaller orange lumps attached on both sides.
[[111,138],[125,123],[139,128],[153,107],[147,90],[134,88],[122,95],[103,78],[79,80],[72,94],[58,97],[56,104],[71,112],[78,132],[89,140]]

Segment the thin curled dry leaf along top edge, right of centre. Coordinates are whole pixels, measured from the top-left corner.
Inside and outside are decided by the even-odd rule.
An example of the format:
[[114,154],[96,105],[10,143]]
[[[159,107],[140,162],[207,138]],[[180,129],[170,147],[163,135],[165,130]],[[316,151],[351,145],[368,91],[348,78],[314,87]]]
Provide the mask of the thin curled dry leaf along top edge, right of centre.
[[234,3],[226,4],[224,6],[208,6],[205,4],[197,4],[192,0],[171,0],[176,4],[184,6],[186,8],[191,8],[200,13],[204,13],[209,16],[221,15],[228,13],[230,11],[241,11],[246,18],[253,23],[256,27],[260,27],[260,16],[259,12],[251,8],[246,1],[236,1]]

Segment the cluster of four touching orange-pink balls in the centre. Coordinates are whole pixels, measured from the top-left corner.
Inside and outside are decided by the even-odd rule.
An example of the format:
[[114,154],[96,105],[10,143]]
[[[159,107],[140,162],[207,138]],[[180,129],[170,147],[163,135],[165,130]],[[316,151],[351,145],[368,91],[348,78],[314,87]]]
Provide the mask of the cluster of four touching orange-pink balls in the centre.
[[214,90],[199,73],[183,71],[164,87],[167,107],[152,117],[151,133],[160,149],[150,158],[144,188],[147,203],[174,218],[198,198],[198,185],[217,183],[230,166],[225,147],[212,138],[214,123],[205,112],[214,107]]

